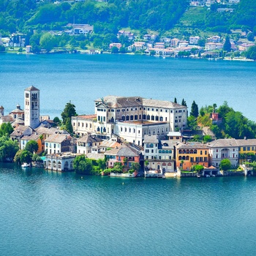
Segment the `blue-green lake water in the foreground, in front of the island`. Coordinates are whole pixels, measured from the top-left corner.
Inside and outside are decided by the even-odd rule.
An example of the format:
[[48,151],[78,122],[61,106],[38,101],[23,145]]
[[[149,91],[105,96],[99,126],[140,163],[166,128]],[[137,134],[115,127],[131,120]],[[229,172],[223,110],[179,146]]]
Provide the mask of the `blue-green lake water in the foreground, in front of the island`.
[[255,177],[121,179],[0,165],[1,255],[255,255]]

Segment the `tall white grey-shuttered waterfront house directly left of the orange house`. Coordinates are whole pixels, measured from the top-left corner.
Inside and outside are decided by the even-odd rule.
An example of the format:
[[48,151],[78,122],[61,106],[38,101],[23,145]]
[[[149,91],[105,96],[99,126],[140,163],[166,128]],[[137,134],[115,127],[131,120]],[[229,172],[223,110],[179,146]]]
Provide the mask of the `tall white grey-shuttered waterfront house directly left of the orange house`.
[[148,161],[146,169],[161,173],[173,173],[175,170],[174,146],[170,140],[159,140],[158,135],[145,135],[144,160]]

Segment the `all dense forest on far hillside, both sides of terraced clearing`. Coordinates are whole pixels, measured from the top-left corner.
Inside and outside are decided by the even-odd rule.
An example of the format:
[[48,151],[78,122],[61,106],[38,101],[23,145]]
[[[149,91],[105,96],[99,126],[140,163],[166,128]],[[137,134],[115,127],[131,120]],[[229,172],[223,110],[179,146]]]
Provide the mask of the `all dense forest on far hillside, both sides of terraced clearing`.
[[[256,25],[256,1],[241,0],[231,6],[234,12],[217,12],[223,4],[212,4],[211,10],[192,26],[199,29],[228,31],[246,26],[253,29]],[[229,6],[230,7],[230,6]],[[189,0],[109,0],[108,2],[51,1],[36,0],[0,0],[1,34],[26,29],[61,29],[67,23],[90,23],[102,26],[108,31],[118,29],[138,29],[140,31],[167,31],[178,23],[178,20],[189,8]],[[192,18],[191,18],[192,19]]]

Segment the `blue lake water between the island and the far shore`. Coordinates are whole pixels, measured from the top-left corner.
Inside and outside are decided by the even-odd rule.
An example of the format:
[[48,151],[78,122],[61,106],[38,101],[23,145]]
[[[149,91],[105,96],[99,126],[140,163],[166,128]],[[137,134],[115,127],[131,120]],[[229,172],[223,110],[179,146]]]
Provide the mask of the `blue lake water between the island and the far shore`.
[[9,113],[23,90],[40,89],[42,115],[60,116],[69,100],[78,114],[94,113],[94,99],[108,94],[174,100],[199,108],[225,100],[253,121],[256,62],[162,59],[127,55],[0,54],[0,105]]

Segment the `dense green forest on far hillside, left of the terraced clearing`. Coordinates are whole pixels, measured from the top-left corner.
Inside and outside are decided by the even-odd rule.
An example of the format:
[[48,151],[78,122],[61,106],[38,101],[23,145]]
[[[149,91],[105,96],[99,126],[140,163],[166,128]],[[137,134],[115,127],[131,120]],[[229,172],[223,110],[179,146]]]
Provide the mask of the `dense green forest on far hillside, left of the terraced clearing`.
[[61,29],[67,23],[90,23],[105,26],[110,31],[122,27],[165,31],[174,26],[189,6],[188,0],[93,0],[69,4],[37,2],[35,0],[0,0],[0,30],[2,34],[37,29]]

